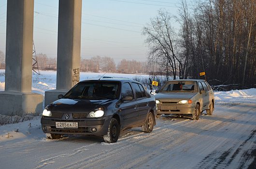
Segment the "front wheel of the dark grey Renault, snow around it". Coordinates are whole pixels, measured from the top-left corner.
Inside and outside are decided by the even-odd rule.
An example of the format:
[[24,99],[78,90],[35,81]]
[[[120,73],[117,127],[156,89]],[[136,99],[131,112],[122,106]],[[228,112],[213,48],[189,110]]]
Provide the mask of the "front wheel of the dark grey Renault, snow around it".
[[112,118],[109,123],[108,133],[103,136],[104,142],[115,143],[120,135],[120,125],[115,118]]

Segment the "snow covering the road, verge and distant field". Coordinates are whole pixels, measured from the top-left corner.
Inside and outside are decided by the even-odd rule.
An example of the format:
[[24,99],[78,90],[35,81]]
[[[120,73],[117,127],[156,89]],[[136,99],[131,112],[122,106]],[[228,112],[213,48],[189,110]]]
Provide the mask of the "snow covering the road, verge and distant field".
[[[34,76],[34,91],[55,88],[56,74]],[[214,95],[212,116],[161,117],[151,133],[127,130],[111,144],[93,136],[48,140],[40,117],[0,126],[0,169],[256,169],[256,89]]]

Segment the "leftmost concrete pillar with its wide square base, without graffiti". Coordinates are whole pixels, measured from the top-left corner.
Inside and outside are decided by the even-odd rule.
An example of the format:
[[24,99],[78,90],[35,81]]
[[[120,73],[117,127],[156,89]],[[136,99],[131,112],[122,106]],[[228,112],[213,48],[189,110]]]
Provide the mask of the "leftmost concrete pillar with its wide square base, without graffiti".
[[5,89],[0,114],[42,113],[43,96],[31,92],[34,0],[8,0]]

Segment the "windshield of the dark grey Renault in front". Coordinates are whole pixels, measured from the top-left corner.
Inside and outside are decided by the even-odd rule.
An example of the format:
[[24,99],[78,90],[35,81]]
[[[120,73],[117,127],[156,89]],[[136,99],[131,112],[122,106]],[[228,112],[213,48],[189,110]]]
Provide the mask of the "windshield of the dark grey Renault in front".
[[107,81],[85,81],[75,85],[64,98],[103,100],[118,98],[119,83]]

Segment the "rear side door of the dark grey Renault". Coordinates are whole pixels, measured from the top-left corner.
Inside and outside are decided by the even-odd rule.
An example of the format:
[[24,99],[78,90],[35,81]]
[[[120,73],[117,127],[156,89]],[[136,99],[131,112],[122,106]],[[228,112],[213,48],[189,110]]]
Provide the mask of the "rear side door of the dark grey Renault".
[[135,91],[137,103],[138,103],[138,122],[143,122],[149,110],[149,99],[146,97],[146,93],[141,84],[131,83],[132,88]]

